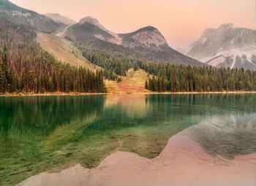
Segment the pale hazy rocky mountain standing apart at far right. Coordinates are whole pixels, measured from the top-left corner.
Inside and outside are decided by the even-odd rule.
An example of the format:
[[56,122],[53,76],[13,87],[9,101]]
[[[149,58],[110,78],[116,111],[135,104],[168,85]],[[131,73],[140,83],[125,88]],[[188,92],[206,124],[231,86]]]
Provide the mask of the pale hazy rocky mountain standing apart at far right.
[[228,23],[210,28],[189,46],[189,55],[217,67],[256,69],[256,31]]

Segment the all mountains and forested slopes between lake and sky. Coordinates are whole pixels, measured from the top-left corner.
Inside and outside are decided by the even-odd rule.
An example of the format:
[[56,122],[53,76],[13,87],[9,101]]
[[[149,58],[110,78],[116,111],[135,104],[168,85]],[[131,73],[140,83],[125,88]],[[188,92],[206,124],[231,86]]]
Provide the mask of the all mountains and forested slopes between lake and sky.
[[[251,61],[245,55],[217,55],[214,59],[208,56],[232,47],[240,50],[249,46],[251,53],[254,31],[240,31],[230,25],[206,31],[198,44],[192,44],[189,53],[197,58],[206,51],[203,57],[209,61],[201,63],[173,50],[153,26],[117,34],[96,18],[82,18],[73,24],[61,15],[40,15],[7,0],[0,2],[0,47],[4,53],[0,59],[0,93],[256,90],[256,71],[244,71],[254,68],[255,55]],[[217,63],[219,58],[226,61]],[[131,70],[134,73],[129,73]],[[89,87],[85,89],[86,86]]]

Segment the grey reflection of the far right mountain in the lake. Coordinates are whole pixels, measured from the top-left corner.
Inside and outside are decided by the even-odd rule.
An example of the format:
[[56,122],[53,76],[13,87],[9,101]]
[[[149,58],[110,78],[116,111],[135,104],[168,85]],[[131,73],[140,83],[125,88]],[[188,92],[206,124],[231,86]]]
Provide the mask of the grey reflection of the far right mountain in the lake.
[[212,117],[189,132],[210,155],[233,159],[256,152],[256,115]]

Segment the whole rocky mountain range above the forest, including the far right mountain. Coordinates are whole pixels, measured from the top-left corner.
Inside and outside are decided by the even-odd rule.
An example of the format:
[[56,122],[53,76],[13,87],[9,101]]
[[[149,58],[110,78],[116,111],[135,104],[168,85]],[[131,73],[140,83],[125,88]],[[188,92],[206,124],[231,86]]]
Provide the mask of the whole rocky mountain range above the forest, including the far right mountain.
[[256,56],[253,55],[256,52],[256,31],[236,28],[232,24],[207,29],[200,39],[187,47],[187,51],[181,49],[183,55],[173,50],[153,26],[128,34],[116,34],[102,26],[96,18],[86,17],[76,23],[58,14],[40,15],[8,0],[0,0],[0,18],[64,37],[80,49],[89,48],[146,61],[256,69]]

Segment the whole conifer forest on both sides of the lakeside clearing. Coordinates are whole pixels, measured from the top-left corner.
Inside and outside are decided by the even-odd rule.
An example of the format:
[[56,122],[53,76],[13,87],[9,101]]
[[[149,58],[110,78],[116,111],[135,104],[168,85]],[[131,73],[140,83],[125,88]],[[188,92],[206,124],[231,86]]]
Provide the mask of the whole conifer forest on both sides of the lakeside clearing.
[[83,49],[85,58],[104,68],[93,72],[57,61],[39,47],[35,36],[34,28],[0,20],[0,93],[105,93],[104,78],[121,82],[131,68],[153,75],[145,82],[145,88],[152,91],[256,90],[255,71],[153,63]]

